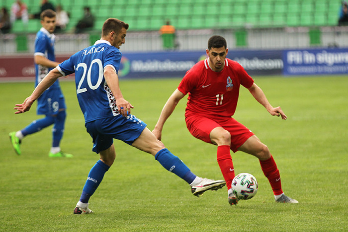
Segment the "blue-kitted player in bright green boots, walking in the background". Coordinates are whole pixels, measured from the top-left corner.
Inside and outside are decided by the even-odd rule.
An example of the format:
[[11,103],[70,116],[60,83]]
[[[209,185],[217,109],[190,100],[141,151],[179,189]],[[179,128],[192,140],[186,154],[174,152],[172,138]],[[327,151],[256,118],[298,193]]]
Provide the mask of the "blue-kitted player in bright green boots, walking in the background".
[[[54,38],[53,34],[56,25],[56,13],[53,10],[44,10],[41,13],[41,29],[36,34],[35,39],[35,87],[44,79],[47,73],[56,67],[54,55]],[[22,130],[14,131],[9,134],[15,152],[20,155],[19,145],[22,139],[30,134],[36,133],[52,124],[53,141],[49,157],[72,157],[61,151],[60,142],[64,133],[65,123],[65,101],[58,80],[53,83],[39,98],[37,114],[45,114],[46,117],[33,121],[30,125]]]

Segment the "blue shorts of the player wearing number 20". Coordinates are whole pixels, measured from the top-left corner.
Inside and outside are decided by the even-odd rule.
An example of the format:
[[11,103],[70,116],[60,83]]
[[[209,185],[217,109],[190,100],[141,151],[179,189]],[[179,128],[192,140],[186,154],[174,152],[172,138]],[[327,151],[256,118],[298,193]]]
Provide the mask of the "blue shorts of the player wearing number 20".
[[93,149],[99,153],[108,149],[113,139],[119,139],[129,145],[139,138],[147,124],[134,115],[123,117],[121,114],[115,117],[97,119],[85,124],[87,132],[93,138]]

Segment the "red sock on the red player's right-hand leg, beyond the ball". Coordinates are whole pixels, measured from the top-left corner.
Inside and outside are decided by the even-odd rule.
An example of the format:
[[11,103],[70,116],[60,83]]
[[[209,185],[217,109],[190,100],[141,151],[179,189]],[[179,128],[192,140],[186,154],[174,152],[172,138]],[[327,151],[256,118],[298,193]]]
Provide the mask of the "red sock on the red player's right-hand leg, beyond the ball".
[[268,178],[271,184],[274,195],[280,195],[283,193],[282,182],[280,181],[280,174],[277,168],[277,164],[274,161],[272,155],[268,160],[260,160],[261,169],[263,174]]

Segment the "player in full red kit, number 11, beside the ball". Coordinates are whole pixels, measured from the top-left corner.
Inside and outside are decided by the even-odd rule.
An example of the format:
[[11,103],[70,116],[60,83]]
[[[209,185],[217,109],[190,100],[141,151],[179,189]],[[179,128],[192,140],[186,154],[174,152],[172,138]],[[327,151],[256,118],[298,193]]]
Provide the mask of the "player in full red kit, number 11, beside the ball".
[[226,58],[228,48],[223,37],[212,36],[208,40],[206,53],[208,58],[195,64],[169,97],[152,133],[161,139],[165,121],[173,113],[177,103],[189,94],[185,110],[187,128],[196,138],[217,145],[217,162],[227,182],[229,204],[237,203],[231,189],[235,172],[230,150],[243,151],[259,159],[276,202],[298,203],[283,193],[279,170],[268,147],[251,130],[232,118],[240,85],[247,88],[271,115],[280,116],[284,120],[287,119],[286,115],[280,107],[273,107],[268,102],[262,89],[240,64]]

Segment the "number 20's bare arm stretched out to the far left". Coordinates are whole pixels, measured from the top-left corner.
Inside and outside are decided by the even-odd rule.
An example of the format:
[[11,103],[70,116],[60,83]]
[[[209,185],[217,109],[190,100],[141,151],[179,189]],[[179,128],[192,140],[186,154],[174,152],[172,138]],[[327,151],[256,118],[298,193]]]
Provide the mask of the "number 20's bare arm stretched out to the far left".
[[41,96],[41,94],[44,93],[44,91],[50,86],[52,86],[53,83],[61,76],[62,73],[59,72],[57,68],[52,69],[34,89],[33,93],[29,97],[27,97],[22,104],[16,104],[16,107],[14,107],[14,109],[17,110],[15,114],[29,111],[32,104]]

